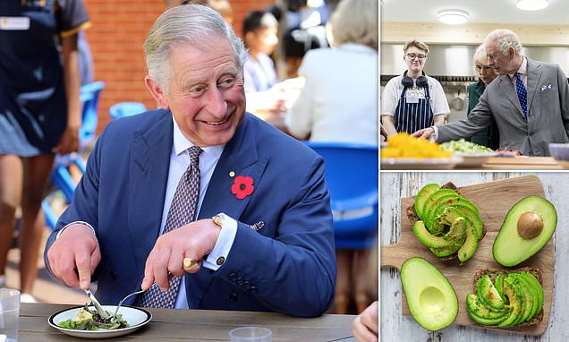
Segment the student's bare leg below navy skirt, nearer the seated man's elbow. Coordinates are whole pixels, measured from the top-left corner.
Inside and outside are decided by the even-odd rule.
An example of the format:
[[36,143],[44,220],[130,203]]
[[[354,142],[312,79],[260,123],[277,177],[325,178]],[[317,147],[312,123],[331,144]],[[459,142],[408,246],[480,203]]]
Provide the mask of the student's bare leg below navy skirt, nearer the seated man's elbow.
[[23,192],[21,196],[20,287],[30,294],[38,275],[38,256],[41,236],[46,227],[41,211],[47,180],[54,162],[53,155],[23,159]]

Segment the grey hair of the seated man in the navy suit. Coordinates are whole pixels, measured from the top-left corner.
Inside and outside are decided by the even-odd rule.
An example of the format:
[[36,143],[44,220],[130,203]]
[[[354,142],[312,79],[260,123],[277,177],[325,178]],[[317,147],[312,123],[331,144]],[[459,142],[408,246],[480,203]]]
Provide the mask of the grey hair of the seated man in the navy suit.
[[202,4],[182,4],[162,13],[144,41],[144,57],[150,78],[167,92],[173,76],[170,63],[172,49],[189,44],[205,50],[211,46],[214,37],[227,38],[242,77],[248,52],[241,38],[215,10]]

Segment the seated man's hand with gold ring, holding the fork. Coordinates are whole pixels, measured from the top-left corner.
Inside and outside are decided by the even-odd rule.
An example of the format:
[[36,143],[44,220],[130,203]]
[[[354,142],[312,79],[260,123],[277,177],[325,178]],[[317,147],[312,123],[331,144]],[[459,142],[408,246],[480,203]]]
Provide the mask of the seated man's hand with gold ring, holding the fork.
[[[213,219],[208,218],[191,222],[184,227],[158,236],[146,260],[142,289],[149,288],[156,280],[157,285],[166,291],[170,286],[168,272],[178,277],[183,276],[186,271],[198,272],[200,260],[213,250],[220,230],[221,228],[213,222]],[[198,263],[184,269],[184,258],[190,258]]]

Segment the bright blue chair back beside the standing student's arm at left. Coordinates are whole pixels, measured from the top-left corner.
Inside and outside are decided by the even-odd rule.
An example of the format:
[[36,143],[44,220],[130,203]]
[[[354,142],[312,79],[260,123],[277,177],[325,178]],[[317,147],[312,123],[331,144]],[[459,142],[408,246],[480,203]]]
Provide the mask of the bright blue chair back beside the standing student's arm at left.
[[79,130],[79,141],[81,148],[95,140],[97,131],[97,110],[98,98],[101,90],[105,88],[105,82],[94,81],[81,86],[80,98],[82,103],[81,128]]

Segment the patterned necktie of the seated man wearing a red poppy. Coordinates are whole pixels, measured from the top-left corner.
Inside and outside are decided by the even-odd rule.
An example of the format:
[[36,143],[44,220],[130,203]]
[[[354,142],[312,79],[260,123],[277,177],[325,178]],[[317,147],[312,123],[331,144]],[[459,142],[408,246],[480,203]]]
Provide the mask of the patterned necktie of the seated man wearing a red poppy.
[[[164,233],[183,227],[196,217],[198,200],[200,199],[200,153],[203,150],[198,146],[188,149],[190,165],[182,175],[180,183],[174,193],[174,199],[168,210]],[[173,308],[178,295],[182,277],[172,277],[170,288],[166,292],[160,291],[158,286],[151,286],[141,295],[140,306],[149,308]]]

